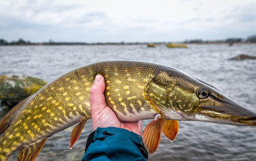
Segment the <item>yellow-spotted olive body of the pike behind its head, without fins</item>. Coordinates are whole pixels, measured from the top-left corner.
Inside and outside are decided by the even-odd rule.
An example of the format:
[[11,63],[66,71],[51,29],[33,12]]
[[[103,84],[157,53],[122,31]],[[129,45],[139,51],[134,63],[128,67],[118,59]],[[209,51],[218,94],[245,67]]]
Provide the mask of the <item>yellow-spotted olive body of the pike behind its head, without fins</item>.
[[[143,62],[99,62],[73,70],[46,85],[17,111],[0,138],[0,160],[20,146],[91,118],[89,90],[96,74],[105,77],[105,99],[123,121],[151,119],[155,111],[144,99],[144,87],[160,66]],[[148,111],[149,115],[141,115]],[[137,115],[137,117],[136,117]]]

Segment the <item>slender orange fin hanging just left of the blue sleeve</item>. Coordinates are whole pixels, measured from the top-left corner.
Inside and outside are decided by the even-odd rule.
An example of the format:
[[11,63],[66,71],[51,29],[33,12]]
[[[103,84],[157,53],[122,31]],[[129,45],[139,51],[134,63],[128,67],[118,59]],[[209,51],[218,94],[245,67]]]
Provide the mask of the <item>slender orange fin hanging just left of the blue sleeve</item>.
[[69,143],[69,148],[72,149],[75,142],[77,142],[77,139],[79,138],[83,127],[85,127],[87,119],[81,119],[80,123],[74,127],[74,129],[71,132],[71,140]]

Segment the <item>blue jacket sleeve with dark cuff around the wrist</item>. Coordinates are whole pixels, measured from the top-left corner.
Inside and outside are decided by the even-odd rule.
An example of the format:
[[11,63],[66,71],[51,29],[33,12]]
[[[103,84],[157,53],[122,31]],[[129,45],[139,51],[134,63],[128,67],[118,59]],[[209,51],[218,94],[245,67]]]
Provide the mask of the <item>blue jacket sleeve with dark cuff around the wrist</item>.
[[[141,136],[116,127],[98,127],[87,139],[82,161],[93,160],[147,160]],[[88,143],[89,142],[89,143]]]

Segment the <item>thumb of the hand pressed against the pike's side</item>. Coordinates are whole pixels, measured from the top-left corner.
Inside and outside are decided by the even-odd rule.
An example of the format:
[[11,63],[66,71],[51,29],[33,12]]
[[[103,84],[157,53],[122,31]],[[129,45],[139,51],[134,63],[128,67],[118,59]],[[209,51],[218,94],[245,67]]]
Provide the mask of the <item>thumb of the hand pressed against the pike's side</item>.
[[105,91],[105,81],[104,77],[100,74],[95,76],[93,86],[90,89],[90,104],[91,104],[91,117],[96,117],[104,109],[105,96],[103,95]]

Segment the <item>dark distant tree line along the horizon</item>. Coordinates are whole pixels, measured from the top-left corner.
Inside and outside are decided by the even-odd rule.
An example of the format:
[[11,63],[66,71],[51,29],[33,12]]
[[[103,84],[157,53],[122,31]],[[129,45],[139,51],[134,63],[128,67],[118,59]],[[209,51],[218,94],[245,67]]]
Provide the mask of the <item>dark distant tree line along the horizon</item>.
[[[183,43],[191,43],[191,44],[206,44],[206,43],[255,43],[256,42],[256,35],[249,36],[246,40],[243,38],[227,38],[226,40],[185,40]],[[125,43],[125,42],[97,42],[97,43],[86,43],[86,42],[52,42],[50,40],[49,42],[42,42],[42,43],[32,43],[30,41],[25,41],[22,38],[19,38],[17,41],[7,42],[4,39],[0,39],[0,46],[6,46],[6,45],[86,45],[86,44],[147,44],[148,42],[134,42],[134,43]],[[165,44],[165,42],[155,42],[155,44]]]

